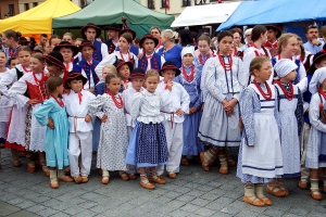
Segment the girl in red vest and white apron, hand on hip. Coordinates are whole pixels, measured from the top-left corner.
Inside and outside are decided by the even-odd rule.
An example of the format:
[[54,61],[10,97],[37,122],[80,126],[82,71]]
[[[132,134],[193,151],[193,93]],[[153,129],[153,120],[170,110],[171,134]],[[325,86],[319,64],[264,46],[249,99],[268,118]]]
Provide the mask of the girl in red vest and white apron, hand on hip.
[[[9,89],[9,97],[17,108],[28,105],[25,118],[25,150],[39,152],[39,161],[46,176],[50,171],[46,166],[46,127],[41,126],[33,116],[33,113],[48,99],[46,87],[47,75],[45,73],[45,59],[42,54],[33,54],[30,58],[32,73],[25,73],[23,77],[14,82]],[[27,92],[27,95],[25,94]],[[25,94],[25,95],[24,95]],[[32,155],[32,154],[30,154]],[[27,170],[34,173],[35,162],[27,155]]]

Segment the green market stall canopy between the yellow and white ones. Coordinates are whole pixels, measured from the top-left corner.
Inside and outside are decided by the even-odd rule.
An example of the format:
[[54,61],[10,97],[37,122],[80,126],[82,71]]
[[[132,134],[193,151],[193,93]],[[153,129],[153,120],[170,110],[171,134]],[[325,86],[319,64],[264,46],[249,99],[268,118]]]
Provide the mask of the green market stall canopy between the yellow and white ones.
[[152,26],[170,28],[173,15],[152,11],[134,0],[96,0],[82,11],[53,20],[53,28],[80,28],[87,23],[105,26],[112,23],[122,24],[122,16],[138,37],[149,33]]

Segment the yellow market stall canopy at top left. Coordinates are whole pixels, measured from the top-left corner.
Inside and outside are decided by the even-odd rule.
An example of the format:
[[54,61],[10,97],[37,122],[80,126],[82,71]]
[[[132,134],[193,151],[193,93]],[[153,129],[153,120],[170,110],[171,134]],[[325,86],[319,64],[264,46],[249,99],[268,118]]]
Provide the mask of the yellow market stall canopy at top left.
[[47,0],[26,12],[0,21],[0,33],[13,29],[23,35],[51,34],[53,17],[67,15],[79,10],[80,8],[70,0]]

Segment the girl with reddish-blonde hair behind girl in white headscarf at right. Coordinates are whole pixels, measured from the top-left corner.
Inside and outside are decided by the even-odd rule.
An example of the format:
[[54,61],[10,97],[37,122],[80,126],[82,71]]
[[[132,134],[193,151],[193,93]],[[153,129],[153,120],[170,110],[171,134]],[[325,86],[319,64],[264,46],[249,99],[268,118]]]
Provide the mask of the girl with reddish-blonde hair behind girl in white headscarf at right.
[[[283,59],[288,59],[293,61],[297,64],[297,76],[293,79],[292,84],[297,85],[300,80],[305,78],[305,69],[300,60],[296,58],[298,51],[298,36],[294,34],[283,34],[278,39],[277,55],[272,59],[272,66]],[[277,73],[277,72],[276,72]],[[276,74],[275,74],[276,75]],[[277,79],[277,77],[274,77]]]

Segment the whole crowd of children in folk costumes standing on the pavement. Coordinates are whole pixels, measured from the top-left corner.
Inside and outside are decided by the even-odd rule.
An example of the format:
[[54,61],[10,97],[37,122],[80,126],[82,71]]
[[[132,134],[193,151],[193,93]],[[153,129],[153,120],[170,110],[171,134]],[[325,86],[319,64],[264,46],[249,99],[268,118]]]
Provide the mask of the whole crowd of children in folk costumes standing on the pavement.
[[268,194],[286,196],[288,178],[300,178],[301,189],[310,181],[310,195],[322,200],[325,50],[302,58],[297,35],[256,25],[246,31],[247,50],[238,29],[221,31],[214,50],[206,35],[181,47],[175,33],[160,38],[153,27],[136,53],[133,29],[108,29],[109,47],[96,40],[101,29],[87,24],[78,47],[71,34],[63,41],[52,36],[47,55],[20,46],[13,30],[4,33],[0,143],[11,150],[13,166],[22,165],[23,153],[27,170],[40,166],[57,189],[59,181],[88,182],[96,152],[103,184],[110,171],[124,181],[139,174],[140,186],[152,190],[166,183],[164,173],[175,179],[190,158],[205,171],[218,159],[227,175],[236,165],[230,151],[237,151],[244,202],[272,205]]

